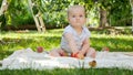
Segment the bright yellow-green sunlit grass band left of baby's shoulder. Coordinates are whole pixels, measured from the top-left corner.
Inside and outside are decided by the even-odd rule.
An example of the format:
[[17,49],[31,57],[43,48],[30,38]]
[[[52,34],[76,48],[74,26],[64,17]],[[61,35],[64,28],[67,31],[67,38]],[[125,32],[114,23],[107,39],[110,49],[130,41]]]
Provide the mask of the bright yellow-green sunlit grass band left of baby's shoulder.
[[59,30],[48,30],[44,33],[39,33],[37,31],[30,31],[27,33],[17,33],[17,32],[4,32],[1,38],[10,39],[33,39],[33,38],[43,38],[43,36],[61,36],[63,29]]

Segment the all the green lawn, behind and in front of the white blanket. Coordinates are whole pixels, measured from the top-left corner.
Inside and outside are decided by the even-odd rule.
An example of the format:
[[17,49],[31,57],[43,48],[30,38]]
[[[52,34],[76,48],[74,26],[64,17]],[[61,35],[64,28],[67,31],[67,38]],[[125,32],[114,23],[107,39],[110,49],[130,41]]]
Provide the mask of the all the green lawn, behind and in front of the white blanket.
[[[0,60],[8,57],[17,50],[31,47],[35,51],[37,46],[43,46],[47,51],[60,46],[61,35],[63,30],[48,30],[45,33],[38,33],[30,31],[28,33],[2,32],[0,40]],[[133,35],[112,35],[101,32],[92,32],[91,46],[96,51],[101,51],[103,46],[108,46],[111,52],[132,52],[133,51]],[[0,75],[131,75],[133,71],[119,68],[89,68],[89,69],[52,69],[52,71],[37,71],[37,69],[3,69]]]

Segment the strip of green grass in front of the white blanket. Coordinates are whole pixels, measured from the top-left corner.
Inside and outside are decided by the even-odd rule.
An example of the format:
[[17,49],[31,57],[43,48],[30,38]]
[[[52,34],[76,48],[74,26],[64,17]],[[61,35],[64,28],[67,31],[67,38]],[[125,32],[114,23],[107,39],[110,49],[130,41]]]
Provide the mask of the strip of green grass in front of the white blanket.
[[88,69],[4,69],[0,71],[1,75],[132,75],[133,71],[119,68],[88,68]]

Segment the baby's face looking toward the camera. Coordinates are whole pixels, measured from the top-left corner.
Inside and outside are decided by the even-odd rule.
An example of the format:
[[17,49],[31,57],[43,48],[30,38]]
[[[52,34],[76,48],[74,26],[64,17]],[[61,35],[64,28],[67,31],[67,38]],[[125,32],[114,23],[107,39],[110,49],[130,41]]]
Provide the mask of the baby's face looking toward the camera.
[[86,21],[84,10],[82,8],[71,9],[68,15],[68,20],[72,26],[84,25]]

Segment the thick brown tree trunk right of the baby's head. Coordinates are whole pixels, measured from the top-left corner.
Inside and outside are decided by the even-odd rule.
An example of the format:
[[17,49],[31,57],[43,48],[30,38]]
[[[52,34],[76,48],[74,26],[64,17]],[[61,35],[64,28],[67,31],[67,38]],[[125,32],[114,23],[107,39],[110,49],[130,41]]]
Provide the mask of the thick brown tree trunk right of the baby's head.
[[106,17],[108,17],[108,11],[103,8],[100,8],[100,28],[109,26]]

